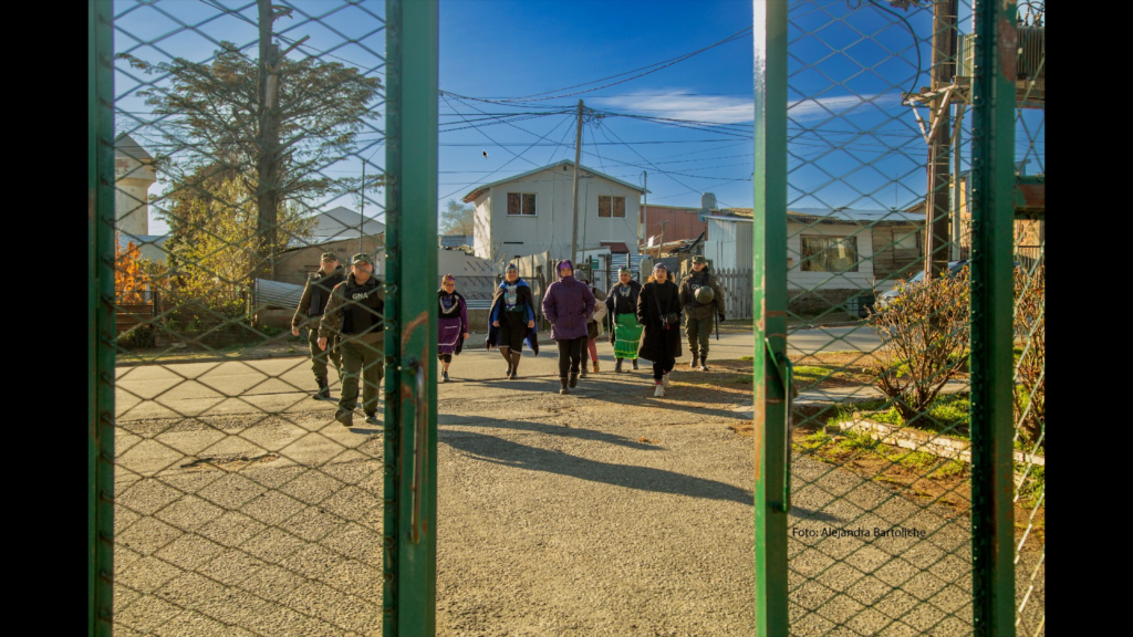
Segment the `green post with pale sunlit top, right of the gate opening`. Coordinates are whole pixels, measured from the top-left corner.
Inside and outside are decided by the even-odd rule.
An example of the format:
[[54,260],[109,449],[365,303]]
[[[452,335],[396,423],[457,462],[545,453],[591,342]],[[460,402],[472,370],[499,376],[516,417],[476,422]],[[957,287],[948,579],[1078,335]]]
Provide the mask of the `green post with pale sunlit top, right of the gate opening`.
[[[783,379],[772,357],[786,350],[786,2],[755,14],[755,517],[756,635],[787,634],[786,533],[790,433]],[[769,342],[770,351],[765,348]],[[768,373],[768,371],[772,371]]]

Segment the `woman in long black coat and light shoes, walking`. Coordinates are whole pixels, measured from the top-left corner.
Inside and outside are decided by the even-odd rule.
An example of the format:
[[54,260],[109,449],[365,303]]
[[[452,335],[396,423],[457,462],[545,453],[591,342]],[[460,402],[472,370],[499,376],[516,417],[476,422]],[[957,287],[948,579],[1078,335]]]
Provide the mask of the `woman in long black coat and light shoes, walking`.
[[638,295],[637,318],[645,326],[645,340],[638,355],[653,360],[653,394],[665,396],[668,373],[681,355],[681,297],[672,274],[664,263],[653,267],[653,274]]

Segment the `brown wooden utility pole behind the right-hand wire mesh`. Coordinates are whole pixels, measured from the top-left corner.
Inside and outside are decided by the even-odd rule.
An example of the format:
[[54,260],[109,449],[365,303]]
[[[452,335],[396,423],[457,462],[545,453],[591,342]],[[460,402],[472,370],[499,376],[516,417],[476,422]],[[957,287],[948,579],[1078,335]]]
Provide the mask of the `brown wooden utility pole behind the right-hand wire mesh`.
[[[943,91],[953,84],[956,75],[956,10],[957,0],[937,0],[932,3],[932,82],[936,94],[929,103],[932,129],[928,146],[928,195],[925,221],[928,246],[925,254],[925,279],[948,270],[947,249],[951,232],[948,220],[948,178],[951,177],[952,118],[948,112],[951,92]],[[956,176],[959,178],[959,175]]]

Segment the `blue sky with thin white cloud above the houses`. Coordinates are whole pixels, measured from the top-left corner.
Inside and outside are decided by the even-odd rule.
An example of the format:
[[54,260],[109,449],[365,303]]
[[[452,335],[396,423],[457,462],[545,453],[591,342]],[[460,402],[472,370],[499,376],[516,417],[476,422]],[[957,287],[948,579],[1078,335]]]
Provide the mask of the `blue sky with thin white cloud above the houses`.
[[[289,5],[297,9],[296,19],[278,23],[284,43],[310,36],[291,57],[353,63],[384,79],[377,58],[384,53],[384,31],[375,17],[384,15],[384,1],[360,7],[333,0]],[[240,17],[254,19],[255,2],[160,0],[138,6],[116,0],[114,7],[119,51],[151,61],[168,56],[201,60],[215,49],[211,37],[249,44],[255,53],[255,28]],[[712,192],[719,205],[752,205],[753,44],[750,29],[743,31],[752,24],[750,0],[442,0],[440,10],[444,94],[438,108],[438,207],[459,201],[477,184],[573,159],[569,111],[580,97],[605,116],[583,126],[583,164],[637,184],[648,171],[650,203],[698,207],[700,195]],[[923,9],[897,14],[908,25],[869,2],[855,9],[845,0],[792,5],[787,130],[793,207],[877,210],[903,207],[923,196],[927,150],[912,109],[900,105],[900,93],[929,83],[931,16]],[[964,14],[961,27],[970,31]],[[921,39],[919,78],[910,26]],[[733,35],[732,41],[625,80],[638,75],[627,71],[657,69],[658,62]],[[347,43],[350,39],[358,42]],[[120,129],[147,118],[146,108],[133,96],[137,77],[117,77]],[[576,85],[582,86],[568,88]],[[571,95],[578,91],[587,92]],[[557,97],[500,102],[533,95]],[[641,117],[679,121],[666,125]],[[1042,133],[1033,113],[1028,117],[1031,133],[1021,137],[1039,139],[1033,158],[1042,152]],[[382,120],[376,121],[381,126]],[[142,129],[135,137],[148,147],[157,142],[148,135]],[[970,135],[965,153],[966,139]],[[1020,147],[1026,144],[1021,141]],[[368,170],[384,163],[378,133],[361,136],[359,156],[324,172],[358,175],[363,158],[372,158]],[[1029,171],[1037,171],[1034,163]],[[381,219],[382,196],[367,193],[367,215]],[[317,203],[358,205],[349,195]],[[151,220],[151,232],[163,231],[163,223]]]

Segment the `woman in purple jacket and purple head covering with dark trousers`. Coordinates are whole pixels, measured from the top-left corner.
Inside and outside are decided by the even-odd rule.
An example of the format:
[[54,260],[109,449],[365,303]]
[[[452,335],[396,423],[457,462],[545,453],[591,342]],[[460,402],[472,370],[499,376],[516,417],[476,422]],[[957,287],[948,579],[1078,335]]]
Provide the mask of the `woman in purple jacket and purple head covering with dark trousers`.
[[577,387],[582,348],[589,339],[586,322],[594,314],[594,292],[590,286],[574,280],[570,261],[560,261],[557,271],[559,280],[543,295],[543,315],[551,321],[551,338],[559,345],[559,393],[570,393],[566,373],[569,370],[569,385]]

